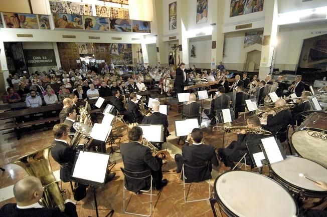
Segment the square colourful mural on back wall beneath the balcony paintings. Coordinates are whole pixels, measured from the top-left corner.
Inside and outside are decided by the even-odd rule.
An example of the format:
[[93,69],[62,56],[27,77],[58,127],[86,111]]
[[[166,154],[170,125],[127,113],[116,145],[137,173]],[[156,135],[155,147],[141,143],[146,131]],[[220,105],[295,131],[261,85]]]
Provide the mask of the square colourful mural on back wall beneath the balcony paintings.
[[131,44],[110,44],[109,52],[111,54],[111,62],[114,65],[133,63]]

